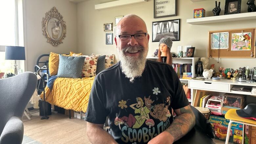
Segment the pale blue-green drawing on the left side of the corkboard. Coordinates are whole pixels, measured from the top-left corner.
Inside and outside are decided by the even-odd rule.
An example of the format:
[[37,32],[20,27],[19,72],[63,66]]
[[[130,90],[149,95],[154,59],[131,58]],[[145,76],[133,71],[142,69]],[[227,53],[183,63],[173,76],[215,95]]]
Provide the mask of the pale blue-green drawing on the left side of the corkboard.
[[228,49],[229,32],[212,33],[211,49]]

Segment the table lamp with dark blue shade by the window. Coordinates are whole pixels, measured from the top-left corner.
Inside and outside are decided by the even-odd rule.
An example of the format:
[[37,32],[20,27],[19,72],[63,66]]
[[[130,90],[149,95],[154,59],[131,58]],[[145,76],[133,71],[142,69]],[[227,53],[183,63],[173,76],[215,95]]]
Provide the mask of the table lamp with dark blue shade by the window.
[[5,46],[5,60],[14,60],[14,74],[18,74],[16,60],[26,60],[25,47]]

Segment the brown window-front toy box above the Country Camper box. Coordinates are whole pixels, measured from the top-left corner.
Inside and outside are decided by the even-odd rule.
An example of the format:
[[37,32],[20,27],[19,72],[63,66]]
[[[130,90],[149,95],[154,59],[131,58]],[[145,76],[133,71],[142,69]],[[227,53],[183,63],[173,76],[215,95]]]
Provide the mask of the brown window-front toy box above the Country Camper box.
[[222,113],[225,114],[229,109],[243,109],[246,106],[246,96],[239,94],[225,93],[223,95]]

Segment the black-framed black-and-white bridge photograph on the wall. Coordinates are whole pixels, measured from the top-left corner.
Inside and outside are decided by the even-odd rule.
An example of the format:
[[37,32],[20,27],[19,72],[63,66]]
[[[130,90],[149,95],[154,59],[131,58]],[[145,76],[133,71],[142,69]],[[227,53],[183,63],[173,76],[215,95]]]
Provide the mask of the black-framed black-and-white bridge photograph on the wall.
[[152,22],[152,42],[159,42],[164,37],[180,41],[180,19]]

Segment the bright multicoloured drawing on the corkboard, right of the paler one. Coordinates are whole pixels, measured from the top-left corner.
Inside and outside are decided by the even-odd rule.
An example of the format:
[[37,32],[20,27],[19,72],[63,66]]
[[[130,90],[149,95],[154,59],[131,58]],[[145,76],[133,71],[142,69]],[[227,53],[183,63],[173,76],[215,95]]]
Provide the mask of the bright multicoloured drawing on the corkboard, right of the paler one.
[[251,50],[251,32],[232,33],[231,50]]

